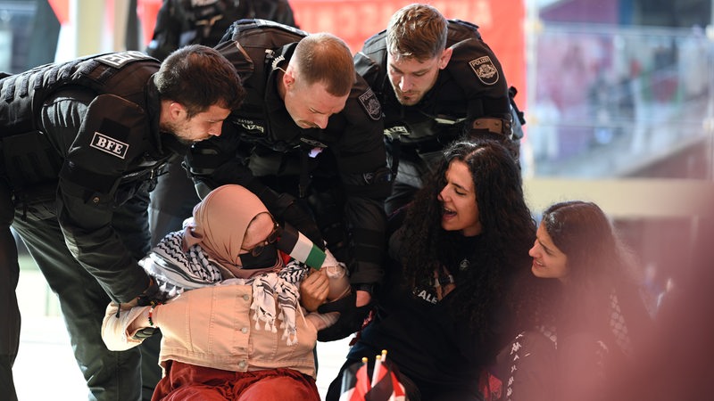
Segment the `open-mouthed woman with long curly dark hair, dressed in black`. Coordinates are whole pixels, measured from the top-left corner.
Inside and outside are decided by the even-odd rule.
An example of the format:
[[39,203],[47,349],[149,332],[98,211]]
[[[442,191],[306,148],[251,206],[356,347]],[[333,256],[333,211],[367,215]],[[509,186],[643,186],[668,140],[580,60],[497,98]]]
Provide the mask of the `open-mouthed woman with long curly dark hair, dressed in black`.
[[[411,401],[482,399],[478,381],[515,336],[503,309],[511,282],[530,265],[535,223],[520,172],[500,143],[452,143],[414,201],[392,217],[386,282],[374,319],[342,372],[388,351]],[[507,339],[507,340],[505,340]]]

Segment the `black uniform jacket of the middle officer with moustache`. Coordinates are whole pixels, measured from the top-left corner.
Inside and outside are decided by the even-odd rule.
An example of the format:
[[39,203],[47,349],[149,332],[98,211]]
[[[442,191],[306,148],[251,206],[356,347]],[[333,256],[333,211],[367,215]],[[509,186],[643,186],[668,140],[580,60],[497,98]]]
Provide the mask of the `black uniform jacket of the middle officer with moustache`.
[[265,20],[240,22],[216,48],[235,65],[245,101],[220,137],[195,144],[191,173],[210,187],[243,184],[278,215],[282,202],[275,192],[303,198],[328,248],[349,266],[353,284],[378,282],[385,247],[383,202],[391,176],[376,97],[355,76],[345,109],[330,116],[326,129],[298,127],[278,95],[277,77],[278,67],[286,66],[307,34]]

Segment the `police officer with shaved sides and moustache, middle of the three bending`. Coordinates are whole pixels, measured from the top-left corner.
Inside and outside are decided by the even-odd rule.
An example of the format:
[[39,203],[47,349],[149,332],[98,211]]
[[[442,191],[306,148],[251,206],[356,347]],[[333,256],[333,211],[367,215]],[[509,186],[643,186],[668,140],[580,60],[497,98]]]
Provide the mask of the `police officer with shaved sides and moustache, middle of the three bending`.
[[320,307],[341,315],[319,340],[344,338],[361,327],[382,277],[391,174],[379,102],[354,72],[347,45],[329,34],[239,20],[216,48],[247,94],[225,135],[192,147],[190,172],[199,192],[242,184],[278,220],[327,242],[355,291]]

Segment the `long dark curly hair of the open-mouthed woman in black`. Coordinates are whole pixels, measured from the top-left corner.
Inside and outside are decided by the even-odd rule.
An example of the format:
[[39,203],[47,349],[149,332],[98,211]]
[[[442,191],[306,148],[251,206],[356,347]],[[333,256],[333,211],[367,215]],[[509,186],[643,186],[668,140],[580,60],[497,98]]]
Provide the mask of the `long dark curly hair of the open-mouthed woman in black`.
[[469,255],[471,267],[456,282],[452,314],[468,319],[471,331],[485,340],[494,327],[491,316],[502,307],[511,278],[530,266],[528,249],[535,238],[535,222],[523,197],[519,167],[501,143],[489,139],[451,143],[404,219],[403,235],[409,241],[403,241],[400,255],[408,282],[423,286],[431,282],[437,266],[450,271],[459,266],[457,247],[463,235],[442,228],[443,207],[437,199],[453,160],[469,166],[482,246]]

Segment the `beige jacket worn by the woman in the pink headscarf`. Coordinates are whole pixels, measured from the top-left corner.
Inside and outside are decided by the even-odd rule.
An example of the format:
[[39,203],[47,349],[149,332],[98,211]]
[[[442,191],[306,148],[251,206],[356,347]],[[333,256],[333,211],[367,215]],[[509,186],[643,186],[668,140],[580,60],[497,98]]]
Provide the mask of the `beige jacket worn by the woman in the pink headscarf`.
[[[295,316],[297,344],[288,346],[283,330],[265,330],[264,323],[253,320],[250,285],[222,285],[186,291],[169,303],[154,308],[154,324],[162,331],[159,361],[174,360],[232,372],[251,372],[288,368],[315,378],[312,352],[317,331],[298,307]],[[145,321],[149,307],[122,310],[117,318],[117,304],[110,304],[104,315],[102,338],[107,348],[124,350],[136,347],[131,323]],[[276,309],[278,306],[276,305]],[[146,326],[147,324],[142,324]]]

